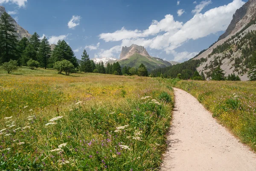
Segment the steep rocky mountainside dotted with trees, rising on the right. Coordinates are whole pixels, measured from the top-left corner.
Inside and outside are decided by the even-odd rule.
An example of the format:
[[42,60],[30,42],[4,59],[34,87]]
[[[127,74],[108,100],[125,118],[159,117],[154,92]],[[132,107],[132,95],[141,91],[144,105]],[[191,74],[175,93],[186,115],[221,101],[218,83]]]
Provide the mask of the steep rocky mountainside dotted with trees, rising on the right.
[[256,0],[249,0],[233,14],[226,32],[208,49],[194,59],[204,58],[197,68],[209,78],[212,71],[221,66],[225,76],[235,73],[242,81],[248,80],[250,56],[256,50]]

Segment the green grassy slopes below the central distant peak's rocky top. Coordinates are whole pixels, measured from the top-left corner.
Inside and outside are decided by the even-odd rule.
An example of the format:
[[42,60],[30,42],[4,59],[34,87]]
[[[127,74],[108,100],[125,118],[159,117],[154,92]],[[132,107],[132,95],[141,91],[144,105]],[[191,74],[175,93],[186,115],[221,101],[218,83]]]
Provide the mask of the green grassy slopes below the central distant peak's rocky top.
[[135,53],[128,59],[123,59],[119,61],[119,64],[121,66],[126,65],[128,67],[136,67],[136,68],[138,68],[142,63],[147,67],[149,71],[154,70],[156,68],[160,68],[160,67],[168,67],[171,65],[169,62],[163,61],[160,58],[146,57],[138,53]]

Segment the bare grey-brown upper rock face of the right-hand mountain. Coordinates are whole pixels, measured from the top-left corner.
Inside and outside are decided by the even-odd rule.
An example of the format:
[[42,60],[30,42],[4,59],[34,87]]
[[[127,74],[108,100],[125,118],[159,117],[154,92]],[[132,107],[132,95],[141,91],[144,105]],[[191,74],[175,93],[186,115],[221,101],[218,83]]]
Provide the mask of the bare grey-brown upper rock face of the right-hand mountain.
[[244,27],[247,23],[250,22],[251,19],[256,17],[256,0],[249,0],[245,3],[240,9],[236,10],[236,13],[233,15],[233,19],[230,25],[227,27],[226,32],[220,36],[218,39],[224,39],[228,35],[233,35],[239,29]]

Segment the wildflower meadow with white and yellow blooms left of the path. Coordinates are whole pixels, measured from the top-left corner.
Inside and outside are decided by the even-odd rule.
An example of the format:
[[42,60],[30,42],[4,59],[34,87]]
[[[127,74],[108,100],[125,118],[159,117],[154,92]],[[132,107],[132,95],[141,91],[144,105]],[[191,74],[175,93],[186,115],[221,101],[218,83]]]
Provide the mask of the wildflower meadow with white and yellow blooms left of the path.
[[158,79],[0,70],[0,170],[153,171],[172,88]]

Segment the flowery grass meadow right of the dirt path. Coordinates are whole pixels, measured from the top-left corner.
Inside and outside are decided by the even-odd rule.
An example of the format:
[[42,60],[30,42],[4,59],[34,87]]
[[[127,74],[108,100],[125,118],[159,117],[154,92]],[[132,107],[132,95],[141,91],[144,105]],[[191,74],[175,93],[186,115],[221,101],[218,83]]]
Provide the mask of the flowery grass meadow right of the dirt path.
[[166,82],[195,96],[213,117],[256,151],[256,81]]

